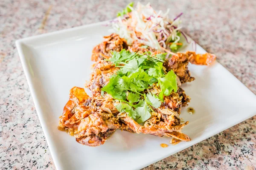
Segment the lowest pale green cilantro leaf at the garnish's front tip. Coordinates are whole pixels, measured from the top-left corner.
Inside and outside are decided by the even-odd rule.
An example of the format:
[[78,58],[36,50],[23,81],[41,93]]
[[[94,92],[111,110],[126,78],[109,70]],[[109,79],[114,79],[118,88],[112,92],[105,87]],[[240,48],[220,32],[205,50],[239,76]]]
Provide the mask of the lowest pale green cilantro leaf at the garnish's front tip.
[[148,107],[147,103],[145,102],[145,100],[143,100],[143,102],[141,102],[140,106],[137,107],[135,109],[136,113],[137,113],[137,119],[136,121],[138,123],[142,123],[145,122],[146,120],[148,120],[151,117],[150,114],[150,108]]

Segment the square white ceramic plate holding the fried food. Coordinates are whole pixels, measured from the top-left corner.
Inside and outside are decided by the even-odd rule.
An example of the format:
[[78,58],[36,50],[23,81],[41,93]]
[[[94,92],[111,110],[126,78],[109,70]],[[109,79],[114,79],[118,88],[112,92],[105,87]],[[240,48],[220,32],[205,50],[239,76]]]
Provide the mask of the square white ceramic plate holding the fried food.
[[[211,67],[190,65],[195,81],[182,85],[191,97],[190,115],[183,108],[180,117],[189,121],[183,133],[190,142],[160,147],[169,138],[117,130],[99,147],[83,146],[73,136],[57,129],[58,117],[73,86],[89,80],[91,51],[110,34],[103,23],[17,40],[17,50],[26,74],[35,108],[58,170],[140,169],[166,158],[256,114],[256,96],[216,62]],[[186,49],[192,50],[191,45]],[[197,53],[205,53],[197,45]]]

